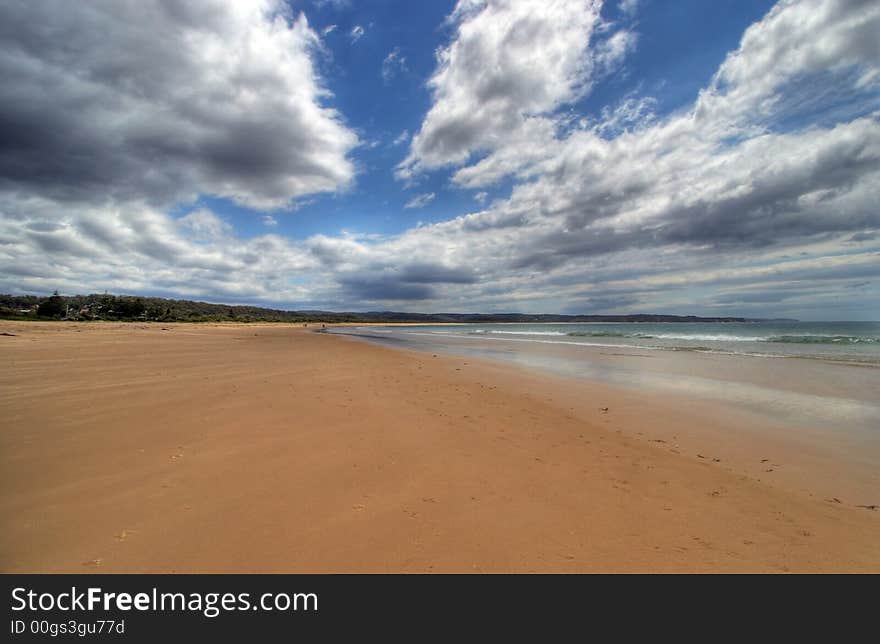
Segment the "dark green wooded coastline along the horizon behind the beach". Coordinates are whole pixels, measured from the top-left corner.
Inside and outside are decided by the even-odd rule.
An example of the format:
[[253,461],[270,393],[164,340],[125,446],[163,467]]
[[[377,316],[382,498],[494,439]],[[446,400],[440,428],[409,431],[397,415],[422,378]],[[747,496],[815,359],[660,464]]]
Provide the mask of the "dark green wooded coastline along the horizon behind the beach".
[[192,300],[129,295],[0,295],[0,318],[156,322],[745,322],[746,318],[692,315],[530,315],[523,313],[365,313],[280,311]]

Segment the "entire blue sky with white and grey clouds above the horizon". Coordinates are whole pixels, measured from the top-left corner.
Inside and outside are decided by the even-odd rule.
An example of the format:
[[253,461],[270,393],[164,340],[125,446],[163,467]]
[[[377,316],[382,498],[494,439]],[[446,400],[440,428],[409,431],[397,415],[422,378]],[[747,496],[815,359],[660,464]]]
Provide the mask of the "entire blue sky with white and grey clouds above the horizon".
[[880,3],[0,3],[0,292],[880,320]]

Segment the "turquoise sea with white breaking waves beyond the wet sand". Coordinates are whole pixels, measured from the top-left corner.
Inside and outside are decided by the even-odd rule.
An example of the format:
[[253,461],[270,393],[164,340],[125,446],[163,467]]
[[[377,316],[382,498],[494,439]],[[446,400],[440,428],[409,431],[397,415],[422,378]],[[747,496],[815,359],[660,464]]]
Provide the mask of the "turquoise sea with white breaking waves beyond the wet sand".
[[370,335],[433,335],[880,364],[880,322],[462,324],[360,330]]

